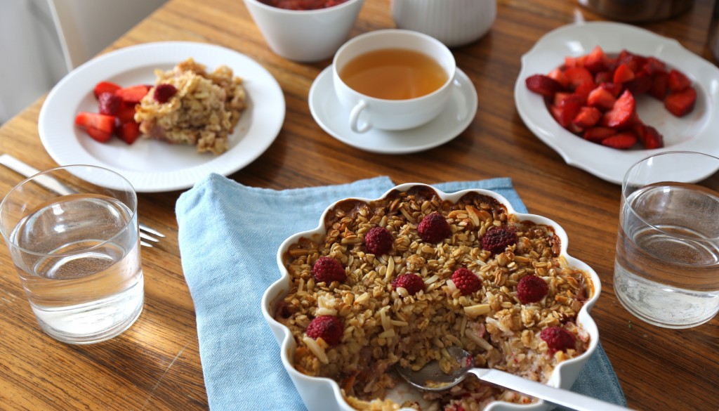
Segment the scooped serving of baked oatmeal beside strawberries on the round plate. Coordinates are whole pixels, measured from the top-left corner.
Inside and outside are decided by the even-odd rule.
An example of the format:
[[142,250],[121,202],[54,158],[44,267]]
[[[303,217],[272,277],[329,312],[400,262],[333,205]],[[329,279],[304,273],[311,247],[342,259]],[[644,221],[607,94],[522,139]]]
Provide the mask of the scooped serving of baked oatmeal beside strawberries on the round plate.
[[224,153],[246,107],[242,78],[226,66],[209,73],[192,58],[169,71],[155,70],[155,76],[134,115],[142,134],[196,145],[198,153]]

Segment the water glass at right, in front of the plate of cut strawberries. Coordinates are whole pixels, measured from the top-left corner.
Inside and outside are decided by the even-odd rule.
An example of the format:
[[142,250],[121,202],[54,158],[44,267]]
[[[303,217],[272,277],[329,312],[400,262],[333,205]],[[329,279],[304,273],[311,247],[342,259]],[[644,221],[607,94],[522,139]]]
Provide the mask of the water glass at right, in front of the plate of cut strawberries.
[[675,151],[622,183],[614,289],[633,315],[690,328],[719,311],[719,158]]

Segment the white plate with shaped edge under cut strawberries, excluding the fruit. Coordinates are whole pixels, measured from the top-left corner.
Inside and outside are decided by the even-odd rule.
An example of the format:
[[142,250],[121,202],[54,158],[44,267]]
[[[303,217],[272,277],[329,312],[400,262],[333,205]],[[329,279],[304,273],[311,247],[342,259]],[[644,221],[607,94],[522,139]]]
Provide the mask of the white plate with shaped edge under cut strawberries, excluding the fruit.
[[[647,125],[664,135],[664,148],[615,150],[590,143],[564,130],[549,114],[539,94],[526,88],[528,76],[561,66],[564,57],[585,55],[600,45],[606,53],[626,49],[654,56],[689,76],[697,90],[692,113],[677,118],[651,96],[638,96],[637,112]],[[522,56],[522,68],[514,87],[514,99],[523,122],[540,140],[553,148],[571,166],[582,168],[600,179],[621,184],[626,170],[648,155],[669,150],[699,151],[719,155],[715,143],[719,116],[719,69],[682,47],[677,40],[655,35],[638,27],[613,22],[586,22],[559,27],[542,37]]]

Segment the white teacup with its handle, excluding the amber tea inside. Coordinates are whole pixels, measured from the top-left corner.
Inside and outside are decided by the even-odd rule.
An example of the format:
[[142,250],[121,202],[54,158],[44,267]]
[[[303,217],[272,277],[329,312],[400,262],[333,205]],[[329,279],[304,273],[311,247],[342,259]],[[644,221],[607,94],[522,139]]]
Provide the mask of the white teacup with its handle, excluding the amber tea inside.
[[[381,49],[406,49],[423,53],[436,61],[446,73],[446,81],[429,94],[411,99],[391,100],[367,96],[352,89],[340,73],[354,58]],[[446,107],[452,94],[452,82],[457,71],[452,52],[439,40],[410,30],[376,30],[354,37],[344,43],[334,55],[332,80],[334,92],[349,109],[349,126],[354,132],[406,130],[434,119]]]

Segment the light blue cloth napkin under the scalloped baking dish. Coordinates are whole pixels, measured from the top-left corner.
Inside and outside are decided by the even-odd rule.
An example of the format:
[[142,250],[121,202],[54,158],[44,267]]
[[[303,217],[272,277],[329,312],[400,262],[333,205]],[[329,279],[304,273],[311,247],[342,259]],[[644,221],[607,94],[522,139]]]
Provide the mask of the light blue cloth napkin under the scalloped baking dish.
[[[279,270],[280,243],[311,230],[324,209],[348,197],[378,198],[395,184],[377,177],[351,184],[275,191],[210,174],[176,204],[180,255],[195,304],[200,358],[212,411],[306,410],[280,361],[260,300]],[[453,192],[490,189],[526,212],[510,179],[433,184]],[[626,405],[601,345],[572,387]]]

